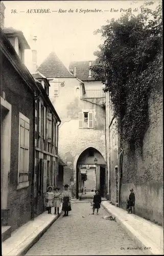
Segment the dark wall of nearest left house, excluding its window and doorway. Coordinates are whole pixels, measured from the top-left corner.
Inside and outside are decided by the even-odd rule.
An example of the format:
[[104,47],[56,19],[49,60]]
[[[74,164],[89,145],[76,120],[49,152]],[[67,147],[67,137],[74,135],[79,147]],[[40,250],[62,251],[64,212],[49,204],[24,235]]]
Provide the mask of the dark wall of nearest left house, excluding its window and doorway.
[[[14,84],[14,86],[13,86]],[[12,231],[31,220],[31,179],[33,169],[33,95],[9,61],[2,55],[1,96],[11,110],[11,162],[8,173],[7,224]],[[19,112],[30,119],[29,186],[18,189]],[[3,136],[3,135],[2,135]],[[8,152],[10,154],[10,152]],[[8,170],[6,170],[7,172]]]

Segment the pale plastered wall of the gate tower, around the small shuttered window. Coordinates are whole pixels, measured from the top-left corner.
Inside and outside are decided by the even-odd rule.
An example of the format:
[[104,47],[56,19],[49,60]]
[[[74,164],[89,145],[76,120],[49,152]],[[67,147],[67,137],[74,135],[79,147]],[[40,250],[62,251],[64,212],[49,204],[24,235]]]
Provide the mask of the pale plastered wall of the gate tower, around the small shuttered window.
[[[64,87],[60,83],[65,83]],[[100,83],[101,87],[102,84]],[[100,87],[100,89],[101,89]],[[61,119],[59,126],[59,154],[67,163],[64,167],[64,183],[71,184],[74,175],[76,183],[76,165],[80,154],[88,147],[94,147],[105,159],[105,114],[99,101],[95,103],[80,99],[80,81],[76,78],[59,79],[59,97],[50,98]],[[53,88],[50,88],[52,95]],[[79,129],[79,112],[93,112],[93,129]]]

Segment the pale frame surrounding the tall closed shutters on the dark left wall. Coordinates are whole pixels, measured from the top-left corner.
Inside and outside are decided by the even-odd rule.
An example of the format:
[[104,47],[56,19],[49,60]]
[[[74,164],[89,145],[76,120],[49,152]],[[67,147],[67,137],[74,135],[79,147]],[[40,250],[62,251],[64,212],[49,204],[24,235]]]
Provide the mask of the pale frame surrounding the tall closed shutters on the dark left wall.
[[[19,182],[19,173],[20,173],[20,124],[21,124],[21,119],[24,120],[29,124],[29,138],[28,138],[28,180]],[[29,155],[30,155],[30,119],[23,115],[22,113],[19,112],[19,142],[18,142],[19,148],[18,148],[18,174],[17,174],[17,189],[25,188],[29,186]]]

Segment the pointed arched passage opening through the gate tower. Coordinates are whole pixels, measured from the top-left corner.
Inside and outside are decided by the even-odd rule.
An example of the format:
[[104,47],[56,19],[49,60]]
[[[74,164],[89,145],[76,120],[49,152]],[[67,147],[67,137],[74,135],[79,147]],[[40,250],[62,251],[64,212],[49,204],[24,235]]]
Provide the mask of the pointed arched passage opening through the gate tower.
[[[98,163],[95,164],[95,158]],[[105,197],[105,160],[102,154],[94,147],[84,150],[76,165],[76,197],[79,197],[82,188],[87,191],[99,189],[101,196]]]

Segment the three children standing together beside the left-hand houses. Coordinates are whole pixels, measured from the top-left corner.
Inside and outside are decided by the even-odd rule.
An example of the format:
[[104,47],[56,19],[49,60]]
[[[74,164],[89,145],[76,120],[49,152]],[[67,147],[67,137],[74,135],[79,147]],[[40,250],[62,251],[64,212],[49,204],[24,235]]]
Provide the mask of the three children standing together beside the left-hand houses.
[[62,210],[64,210],[64,216],[68,216],[68,211],[71,210],[71,192],[68,190],[69,185],[64,185],[64,191],[60,193],[60,188],[56,187],[53,192],[53,186],[49,186],[47,188],[47,192],[45,193],[45,202],[46,208],[48,209],[48,214],[51,213],[51,208],[55,207],[55,215],[56,209],[59,215],[59,208],[62,204]]

